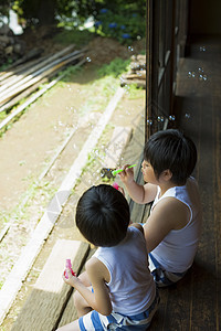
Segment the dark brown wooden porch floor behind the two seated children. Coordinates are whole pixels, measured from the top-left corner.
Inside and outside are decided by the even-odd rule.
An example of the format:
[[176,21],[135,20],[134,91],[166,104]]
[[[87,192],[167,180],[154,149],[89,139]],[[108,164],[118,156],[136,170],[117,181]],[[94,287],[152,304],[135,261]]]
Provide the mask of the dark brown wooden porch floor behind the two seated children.
[[[161,289],[150,330],[221,330],[221,39],[197,38],[178,71],[177,127],[198,148],[194,177],[203,233],[194,264],[182,281]],[[202,75],[202,76],[200,76]]]

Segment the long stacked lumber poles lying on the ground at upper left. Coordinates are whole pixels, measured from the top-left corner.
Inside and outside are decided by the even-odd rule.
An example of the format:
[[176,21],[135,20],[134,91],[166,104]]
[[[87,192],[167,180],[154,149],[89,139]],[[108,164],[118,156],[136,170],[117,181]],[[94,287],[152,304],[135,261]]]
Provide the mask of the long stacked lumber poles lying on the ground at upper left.
[[41,51],[33,50],[6,72],[0,72],[0,113],[8,113],[21,99],[27,98],[67,65],[81,65],[85,62],[85,50],[76,51],[74,45],[53,55],[38,56],[36,54],[40,55]]

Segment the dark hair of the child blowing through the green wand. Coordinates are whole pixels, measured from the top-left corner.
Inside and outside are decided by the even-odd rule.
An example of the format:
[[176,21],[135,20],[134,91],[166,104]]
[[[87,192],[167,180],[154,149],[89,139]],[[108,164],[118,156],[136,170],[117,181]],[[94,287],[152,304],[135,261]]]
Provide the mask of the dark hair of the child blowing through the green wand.
[[157,178],[169,169],[171,181],[185,185],[194,169],[197,149],[193,141],[182,132],[168,129],[150,136],[144,149],[144,159],[151,164]]

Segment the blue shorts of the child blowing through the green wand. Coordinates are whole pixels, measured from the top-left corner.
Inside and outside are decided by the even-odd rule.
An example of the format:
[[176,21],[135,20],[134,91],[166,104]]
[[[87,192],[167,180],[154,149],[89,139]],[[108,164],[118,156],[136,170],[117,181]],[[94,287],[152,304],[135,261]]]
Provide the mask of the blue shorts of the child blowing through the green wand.
[[158,260],[152,256],[151,253],[148,254],[148,259],[149,259],[149,268],[150,271],[154,276],[155,282],[157,284],[158,287],[166,287],[170,286],[178,280],[180,280],[186,274],[185,273],[169,273],[166,271]]

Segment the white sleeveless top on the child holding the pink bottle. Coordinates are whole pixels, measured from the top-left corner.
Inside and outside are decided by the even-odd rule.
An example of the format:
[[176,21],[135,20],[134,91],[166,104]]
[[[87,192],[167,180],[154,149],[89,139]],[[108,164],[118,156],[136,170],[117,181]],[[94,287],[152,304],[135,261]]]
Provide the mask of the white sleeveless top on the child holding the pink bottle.
[[133,316],[152,303],[156,287],[148,268],[148,255],[143,233],[128,227],[126,238],[114,247],[99,247],[94,256],[108,269],[107,284],[113,312]]

